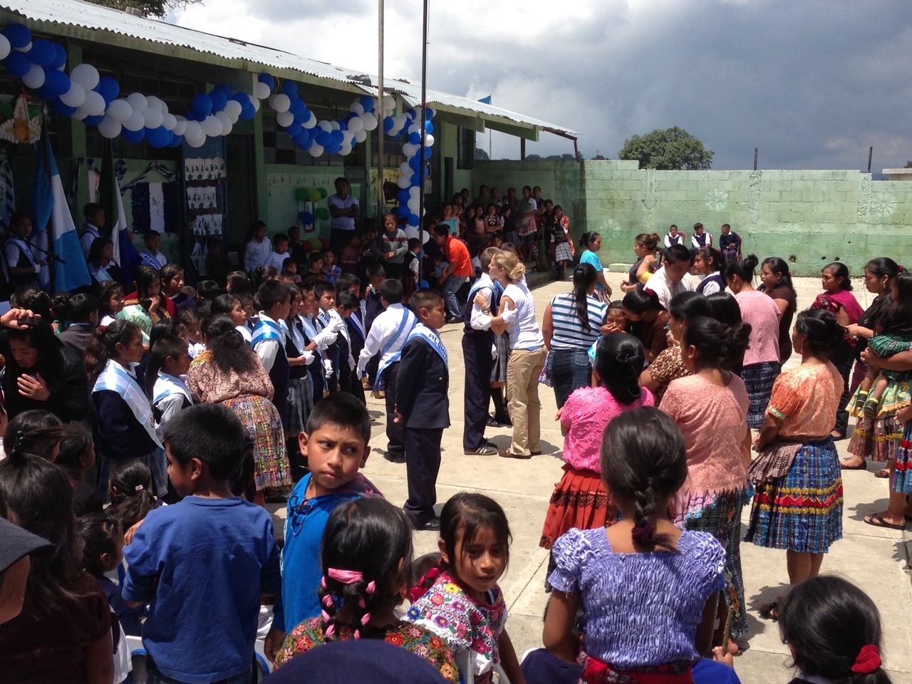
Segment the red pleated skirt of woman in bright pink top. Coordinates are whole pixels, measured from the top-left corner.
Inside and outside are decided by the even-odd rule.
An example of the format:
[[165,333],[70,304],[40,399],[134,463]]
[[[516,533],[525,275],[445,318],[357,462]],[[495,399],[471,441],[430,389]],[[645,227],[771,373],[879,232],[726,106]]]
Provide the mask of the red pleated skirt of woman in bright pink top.
[[564,476],[554,485],[554,493],[544,516],[544,530],[538,545],[550,549],[557,537],[571,527],[591,530],[617,523],[617,506],[597,472],[577,470],[564,465]]

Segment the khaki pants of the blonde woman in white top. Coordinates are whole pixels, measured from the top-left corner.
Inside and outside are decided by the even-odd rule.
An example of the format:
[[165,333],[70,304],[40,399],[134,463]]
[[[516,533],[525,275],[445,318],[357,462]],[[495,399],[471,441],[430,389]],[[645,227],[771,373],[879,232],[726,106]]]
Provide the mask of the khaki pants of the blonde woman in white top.
[[513,421],[513,442],[510,452],[528,456],[542,451],[541,411],[538,399],[538,376],[544,368],[548,350],[513,349],[507,363],[507,394],[510,400],[507,409]]

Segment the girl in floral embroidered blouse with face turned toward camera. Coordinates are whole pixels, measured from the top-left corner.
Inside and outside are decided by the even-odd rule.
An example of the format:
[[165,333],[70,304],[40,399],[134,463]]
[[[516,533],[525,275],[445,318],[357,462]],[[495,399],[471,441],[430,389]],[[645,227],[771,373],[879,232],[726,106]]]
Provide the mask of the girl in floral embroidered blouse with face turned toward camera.
[[454,494],[440,513],[440,563],[411,591],[406,619],[447,642],[464,684],[489,684],[495,669],[511,684],[525,684],[497,586],[511,539],[497,502],[483,494]]

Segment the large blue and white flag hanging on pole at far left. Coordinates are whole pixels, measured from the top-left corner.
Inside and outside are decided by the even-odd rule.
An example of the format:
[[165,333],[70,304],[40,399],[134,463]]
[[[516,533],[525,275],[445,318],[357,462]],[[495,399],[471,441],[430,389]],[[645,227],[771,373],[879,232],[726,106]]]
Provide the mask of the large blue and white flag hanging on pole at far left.
[[[35,171],[35,197],[32,201],[34,214],[34,233],[32,241],[41,249],[53,251],[64,263],[57,262],[54,267],[54,282],[51,283],[51,269],[45,266],[38,274],[41,286],[55,292],[75,290],[89,285],[92,281],[88,275],[86,260],[79,245],[76,224],[69,212],[67,197],[63,192],[63,183],[57,171],[57,161],[51,150],[47,136],[38,143],[37,168]],[[50,245],[53,245],[51,247]],[[35,254],[36,261],[45,254]]]

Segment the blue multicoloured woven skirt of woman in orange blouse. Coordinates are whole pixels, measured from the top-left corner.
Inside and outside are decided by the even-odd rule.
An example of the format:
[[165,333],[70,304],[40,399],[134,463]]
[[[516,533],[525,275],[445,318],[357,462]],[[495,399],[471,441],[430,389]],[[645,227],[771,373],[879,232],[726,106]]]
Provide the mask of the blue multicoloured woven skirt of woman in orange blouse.
[[805,442],[787,475],[757,485],[744,541],[825,554],[843,537],[843,478],[831,438]]

